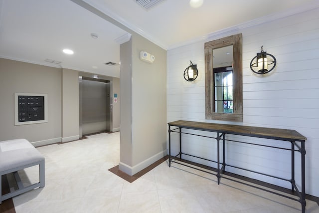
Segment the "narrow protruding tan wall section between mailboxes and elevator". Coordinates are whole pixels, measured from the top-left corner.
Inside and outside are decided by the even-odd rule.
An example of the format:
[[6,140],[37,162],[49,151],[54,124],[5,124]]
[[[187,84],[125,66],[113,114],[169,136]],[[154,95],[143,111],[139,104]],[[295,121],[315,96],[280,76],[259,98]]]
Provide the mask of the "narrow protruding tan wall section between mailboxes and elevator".
[[79,139],[79,72],[62,69],[62,142]]

